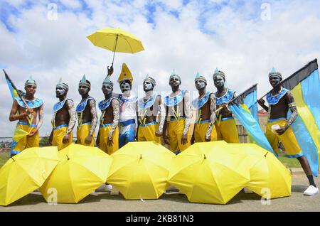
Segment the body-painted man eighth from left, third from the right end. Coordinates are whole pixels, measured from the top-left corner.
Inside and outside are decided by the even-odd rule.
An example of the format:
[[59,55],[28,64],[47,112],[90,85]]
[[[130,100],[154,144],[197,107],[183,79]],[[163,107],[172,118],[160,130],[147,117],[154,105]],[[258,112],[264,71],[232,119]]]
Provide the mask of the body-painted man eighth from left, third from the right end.
[[196,89],[199,97],[193,99],[192,107],[196,109],[196,122],[193,129],[191,144],[194,142],[216,141],[215,131],[215,96],[206,91],[207,80],[197,73],[195,78]]

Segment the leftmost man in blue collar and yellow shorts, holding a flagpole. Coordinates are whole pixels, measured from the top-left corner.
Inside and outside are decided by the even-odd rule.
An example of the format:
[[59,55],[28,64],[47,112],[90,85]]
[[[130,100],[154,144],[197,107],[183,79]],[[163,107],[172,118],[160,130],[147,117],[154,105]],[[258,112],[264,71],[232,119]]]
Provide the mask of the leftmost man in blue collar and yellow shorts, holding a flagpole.
[[[11,157],[19,154],[24,149],[39,146],[39,129],[43,123],[43,100],[34,95],[37,90],[37,83],[30,77],[24,85],[26,93],[22,95],[26,104],[20,98],[15,98],[12,104],[9,120],[10,122],[18,120],[16,130],[21,129],[28,133],[27,136],[13,141],[11,144]],[[37,116],[39,117],[38,123]]]

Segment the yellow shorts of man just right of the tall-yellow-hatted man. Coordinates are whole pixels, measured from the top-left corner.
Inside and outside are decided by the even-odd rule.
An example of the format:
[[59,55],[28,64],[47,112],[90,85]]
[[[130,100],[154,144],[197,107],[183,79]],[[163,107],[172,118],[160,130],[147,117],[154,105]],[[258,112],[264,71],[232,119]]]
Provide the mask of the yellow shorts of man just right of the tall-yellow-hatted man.
[[157,122],[149,122],[147,124],[139,124],[138,141],[156,141],[161,144],[160,136],[156,136],[159,129]]

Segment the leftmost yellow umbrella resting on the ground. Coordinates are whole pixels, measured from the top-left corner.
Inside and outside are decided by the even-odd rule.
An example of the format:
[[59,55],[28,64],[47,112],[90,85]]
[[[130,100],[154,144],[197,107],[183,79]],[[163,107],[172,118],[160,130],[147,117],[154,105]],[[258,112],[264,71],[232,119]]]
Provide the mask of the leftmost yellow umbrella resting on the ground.
[[9,205],[41,187],[58,161],[55,146],[25,149],[9,158],[0,169],[0,205]]

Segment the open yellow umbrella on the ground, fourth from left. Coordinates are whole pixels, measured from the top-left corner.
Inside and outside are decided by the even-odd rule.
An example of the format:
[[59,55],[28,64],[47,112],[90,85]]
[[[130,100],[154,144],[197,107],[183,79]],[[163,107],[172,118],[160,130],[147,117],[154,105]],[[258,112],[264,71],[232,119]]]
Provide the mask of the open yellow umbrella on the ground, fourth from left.
[[250,181],[241,154],[228,154],[224,141],[196,143],[171,163],[169,183],[194,203],[225,204]]

